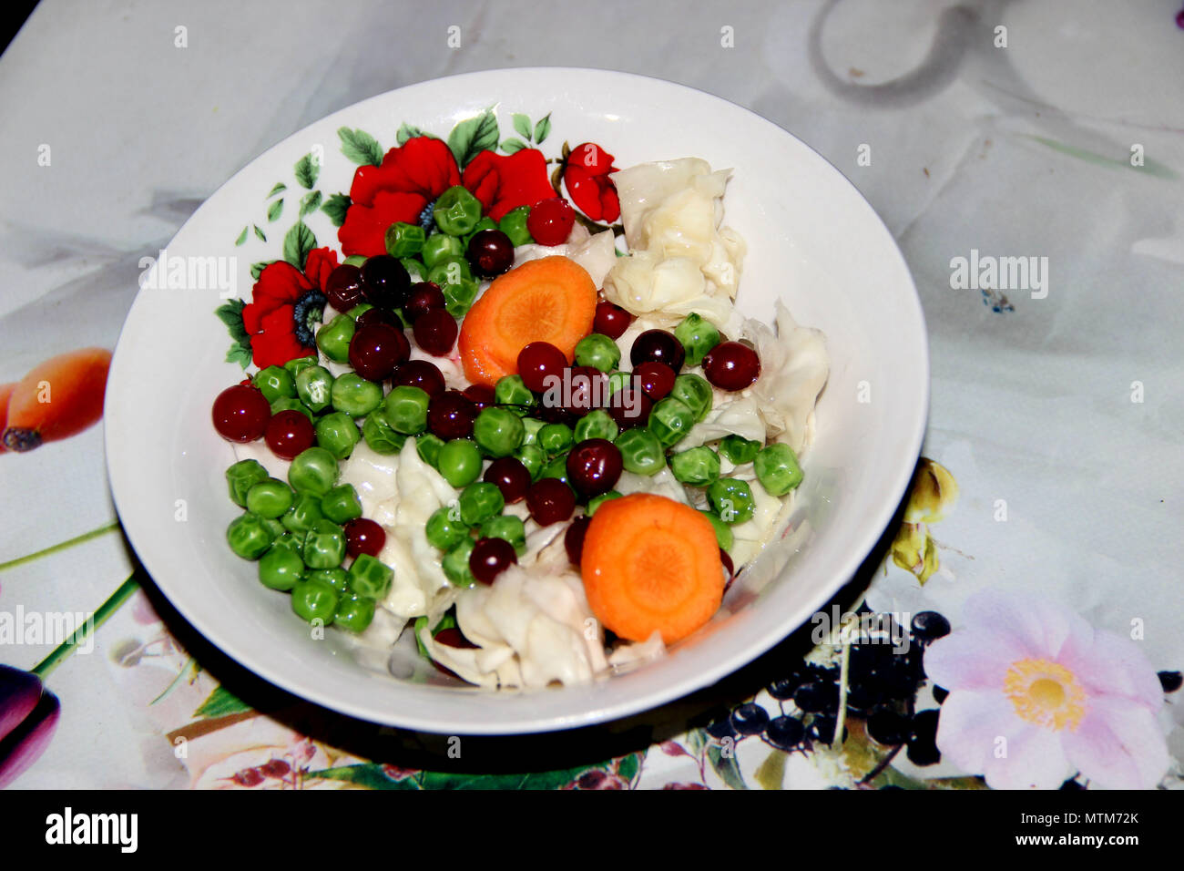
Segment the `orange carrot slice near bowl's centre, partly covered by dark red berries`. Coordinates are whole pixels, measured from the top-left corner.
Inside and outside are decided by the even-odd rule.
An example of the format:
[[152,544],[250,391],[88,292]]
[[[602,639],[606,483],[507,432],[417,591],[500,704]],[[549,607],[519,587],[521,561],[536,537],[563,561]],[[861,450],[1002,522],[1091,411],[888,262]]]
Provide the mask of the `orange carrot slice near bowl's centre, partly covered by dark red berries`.
[[551,342],[571,363],[594,318],[596,284],[584,267],[560,256],[527,261],[495,278],[464,316],[464,374],[493,386],[517,372],[519,352],[532,341]]

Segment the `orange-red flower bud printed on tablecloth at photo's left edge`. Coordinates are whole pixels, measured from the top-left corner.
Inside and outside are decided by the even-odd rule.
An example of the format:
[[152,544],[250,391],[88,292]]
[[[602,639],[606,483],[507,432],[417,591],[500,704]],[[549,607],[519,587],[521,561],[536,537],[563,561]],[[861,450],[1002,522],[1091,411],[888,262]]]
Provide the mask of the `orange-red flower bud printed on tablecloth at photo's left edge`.
[[58,354],[36,366],[8,397],[4,446],[32,450],[98,421],[110,365],[111,352],[92,347]]

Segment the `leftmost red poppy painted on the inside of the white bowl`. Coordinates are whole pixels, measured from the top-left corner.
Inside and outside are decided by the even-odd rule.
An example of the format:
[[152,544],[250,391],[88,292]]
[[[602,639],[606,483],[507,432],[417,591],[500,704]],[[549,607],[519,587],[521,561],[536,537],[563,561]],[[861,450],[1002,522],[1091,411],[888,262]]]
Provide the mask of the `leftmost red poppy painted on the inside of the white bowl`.
[[328,248],[308,252],[304,271],[284,261],[264,267],[243,306],[243,327],[251,337],[251,359],[259,369],[282,366],[316,353],[310,318],[324,307],[324,284],[337,268]]

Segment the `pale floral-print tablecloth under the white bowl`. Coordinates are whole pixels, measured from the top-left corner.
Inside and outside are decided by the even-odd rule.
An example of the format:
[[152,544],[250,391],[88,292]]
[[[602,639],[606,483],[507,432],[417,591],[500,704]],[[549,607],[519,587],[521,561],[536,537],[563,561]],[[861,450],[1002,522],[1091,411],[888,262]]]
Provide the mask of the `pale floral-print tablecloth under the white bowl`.
[[[1179,12],[45,0],[0,58],[0,783],[1178,788]],[[559,64],[747,105],[883,217],[933,367],[905,519],[836,601],[848,632],[806,626],[655,711],[459,741],[342,718],[136,574],[99,425],[26,449],[38,373],[114,348],[140,258],[272,142],[403,84]],[[51,615],[90,613],[56,645]]]

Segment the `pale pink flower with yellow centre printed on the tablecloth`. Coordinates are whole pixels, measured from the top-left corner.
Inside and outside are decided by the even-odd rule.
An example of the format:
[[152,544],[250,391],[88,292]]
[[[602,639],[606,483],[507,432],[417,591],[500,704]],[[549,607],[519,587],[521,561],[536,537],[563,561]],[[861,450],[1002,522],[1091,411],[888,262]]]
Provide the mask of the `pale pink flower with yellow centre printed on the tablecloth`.
[[1153,788],[1169,767],[1163,687],[1138,646],[1034,598],[986,591],[925,671],[950,691],[938,749],[996,789],[1053,789],[1080,771],[1103,788]]

